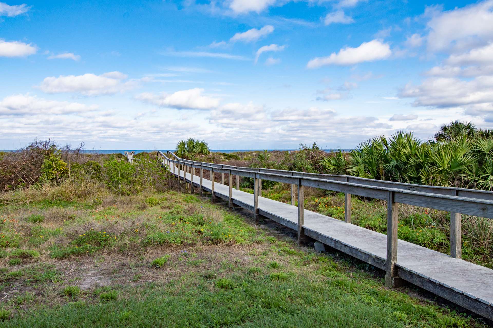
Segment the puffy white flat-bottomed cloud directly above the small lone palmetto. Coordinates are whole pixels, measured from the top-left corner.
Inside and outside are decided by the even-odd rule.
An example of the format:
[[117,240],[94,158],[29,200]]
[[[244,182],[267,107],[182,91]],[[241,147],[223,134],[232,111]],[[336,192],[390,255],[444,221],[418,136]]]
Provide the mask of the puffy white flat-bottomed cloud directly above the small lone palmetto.
[[161,92],[159,94],[144,92],[136,98],[160,107],[176,109],[207,110],[219,106],[220,99],[203,95],[204,91],[204,89],[194,88],[176,91],[171,94],[168,92]]

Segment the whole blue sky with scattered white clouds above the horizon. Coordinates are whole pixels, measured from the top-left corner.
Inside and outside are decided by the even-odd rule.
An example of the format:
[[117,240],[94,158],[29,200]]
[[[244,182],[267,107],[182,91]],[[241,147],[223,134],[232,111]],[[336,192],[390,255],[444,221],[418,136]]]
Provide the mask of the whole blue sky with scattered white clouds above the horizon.
[[0,2],[0,149],[331,149],[493,127],[492,22],[493,0]]

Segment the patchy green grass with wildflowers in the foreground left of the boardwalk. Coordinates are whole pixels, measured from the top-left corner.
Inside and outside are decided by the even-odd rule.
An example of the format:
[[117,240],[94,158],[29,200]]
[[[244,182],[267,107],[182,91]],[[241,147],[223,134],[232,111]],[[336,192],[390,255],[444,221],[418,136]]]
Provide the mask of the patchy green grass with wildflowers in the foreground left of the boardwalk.
[[[0,252],[0,291],[27,291],[2,304],[2,327],[483,327],[388,290],[365,264],[298,247],[196,195],[97,197],[69,207],[0,207],[15,216],[1,232],[15,229],[9,237],[17,238]],[[319,206],[315,199],[309,207]],[[358,215],[361,204],[354,201]],[[49,221],[53,209],[67,212]],[[48,214],[33,223],[27,212]],[[417,229],[423,217],[402,224]],[[14,260],[22,262],[7,266]],[[73,268],[84,266],[109,282],[81,290],[75,285],[84,275]]]

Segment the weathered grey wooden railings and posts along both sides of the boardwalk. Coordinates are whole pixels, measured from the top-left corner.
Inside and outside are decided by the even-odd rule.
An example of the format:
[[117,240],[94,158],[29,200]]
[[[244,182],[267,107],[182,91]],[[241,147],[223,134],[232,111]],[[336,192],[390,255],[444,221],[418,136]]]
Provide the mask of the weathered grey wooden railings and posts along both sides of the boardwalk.
[[[168,156],[167,156],[168,155]],[[394,286],[397,277],[395,263],[397,261],[397,214],[398,204],[409,204],[429,209],[440,209],[451,212],[451,255],[461,257],[461,214],[493,218],[493,192],[416,185],[374,179],[364,179],[351,176],[311,174],[296,171],[271,170],[262,168],[245,168],[223,164],[213,164],[181,159],[168,151],[167,155],[158,151],[158,158],[163,158],[164,164],[172,168],[180,179],[180,171],[195,174],[200,170],[200,191],[202,192],[203,170],[211,172],[211,194],[214,198],[214,173],[229,174],[229,206],[232,207],[232,177],[236,176],[239,189],[239,177],[253,178],[254,216],[258,221],[258,196],[261,193],[261,180],[271,180],[291,184],[291,205],[294,205],[295,187],[298,189],[298,242],[304,239],[304,187],[315,187],[325,190],[338,191],[346,194],[345,220],[351,222],[351,195],[371,197],[387,201],[387,260],[386,284]],[[181,166],[181,168],[180,168]],[[185,171],[186,170],[186,171]],[[192,178],[193,179],[193,178]],[[191,181],[193,188],[193,180]]]

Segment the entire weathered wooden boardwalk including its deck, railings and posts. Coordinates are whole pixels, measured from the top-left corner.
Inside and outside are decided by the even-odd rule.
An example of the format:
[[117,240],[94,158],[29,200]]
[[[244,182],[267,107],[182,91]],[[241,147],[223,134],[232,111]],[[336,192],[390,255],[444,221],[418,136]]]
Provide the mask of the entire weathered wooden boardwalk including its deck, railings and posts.
[[[234,167],[185,160],[169,151],[166,155],[158,152],[158,158],[191,192],[195,187],[200,193],[211,192],[211,200],[219,197],[227,200],[230,208],[248,209],[256,221],[262,215],[296,230],[299,243],[310,237],[381,268],[386,271],[388,287],[410,282],[493,320],[493,270],[460,259],[461,213],[493,218],[493,192]],[[210,172],[210,180],[204,178],[205,170]],[[215,174],[221,175],[223,183],[214,182]],[[254,180],[253,195],[239,190],[239,177]],[[261,197],[262,180],[291,184],[292,205]],[[303,209],[305,187],[346,193],[346,220]],[[387,200],[387,235],[350,223],[351,195]],[[298,206],[293,206],[296,201]],[[452,256],[397,239],[399,204],[450,211]]]

